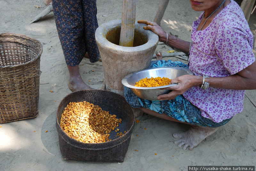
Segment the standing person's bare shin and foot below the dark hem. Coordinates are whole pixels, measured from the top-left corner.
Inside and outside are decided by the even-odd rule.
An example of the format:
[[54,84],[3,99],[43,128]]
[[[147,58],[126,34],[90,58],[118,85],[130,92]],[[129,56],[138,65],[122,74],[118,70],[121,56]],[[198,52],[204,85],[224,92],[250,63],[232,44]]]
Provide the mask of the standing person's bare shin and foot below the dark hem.
[[80,73],[78,66],[71,67],[68,66],[69,71],[69,82],[68,82],[68,88],[74,92],[74,91],[80,91],[84,89],[92,89],[90,86],[84,83]]

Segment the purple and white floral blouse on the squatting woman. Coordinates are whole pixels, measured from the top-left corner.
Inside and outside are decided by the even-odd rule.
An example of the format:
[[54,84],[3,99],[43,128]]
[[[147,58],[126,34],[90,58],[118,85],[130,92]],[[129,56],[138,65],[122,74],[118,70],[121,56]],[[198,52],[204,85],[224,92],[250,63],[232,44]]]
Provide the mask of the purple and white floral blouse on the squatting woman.
[[[202,14],[193,23],[191,40],[193,46],[189,55],[189,69],[195,75],[225,77],[238,73],[254,61],[252,52],[253,36],[244,13],[231,0],[224,9],[202,31],[196,27]],[[201,115],[221,122],[243,110],[244,90],[206,90],[192,87],[183,96],[201,110]]]

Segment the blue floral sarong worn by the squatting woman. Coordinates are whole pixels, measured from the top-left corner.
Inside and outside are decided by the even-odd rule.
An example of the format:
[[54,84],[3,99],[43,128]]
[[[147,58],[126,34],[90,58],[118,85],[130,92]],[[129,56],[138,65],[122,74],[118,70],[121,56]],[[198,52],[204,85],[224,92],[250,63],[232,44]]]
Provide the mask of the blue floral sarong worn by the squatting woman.
[[[183,67],[188,68],[188,65],[180,61],[152,61],[150,68],[157,67]],[[181,122],[187,122],[192,125],[219,127],[222,126],[231,118],[216,123],[211,119],[201,116],[199,108],[190,103],[184,96],[179,95],[173,100],[145,100],[136,96],[130,88],[124,87],[124,98],[133,108],[147,108],[156,111],[160,114],[166,114]]]

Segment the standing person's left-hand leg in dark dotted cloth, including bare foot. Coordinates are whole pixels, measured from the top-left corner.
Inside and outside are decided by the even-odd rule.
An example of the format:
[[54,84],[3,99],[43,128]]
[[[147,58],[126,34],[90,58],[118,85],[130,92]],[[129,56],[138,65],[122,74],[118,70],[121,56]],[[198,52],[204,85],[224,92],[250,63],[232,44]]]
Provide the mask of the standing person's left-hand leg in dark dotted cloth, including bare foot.
[[71,91],[91,89],[84,83],[78,65],[86,53],[82,0],[52,0],[60,43],[69,71]]

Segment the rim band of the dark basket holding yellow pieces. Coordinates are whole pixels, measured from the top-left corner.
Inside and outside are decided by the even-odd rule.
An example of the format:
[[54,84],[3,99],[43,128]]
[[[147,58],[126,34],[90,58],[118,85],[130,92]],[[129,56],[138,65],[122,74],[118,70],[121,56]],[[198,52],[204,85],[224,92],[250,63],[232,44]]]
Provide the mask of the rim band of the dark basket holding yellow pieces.
[[[81,90],[81,91],[105,91],[105,92],[111,92],[111,91],[106,91],[106,90],[98,90],[98,89],[84,89],[84,90]],[[73,94],[73,93],[77,93],[77,92],[81,92],[81,91],[76,91],[76,92],[72,92],[72,93],[69,93],[67,96],[65,96],[62,100],[61,100],[61,102],[65,99],[65,98],[67,98],[68,96],[70,96],[71,94]],[[114,93],[114,92],[111,92],[111,93]],[[118,95],[118,96],[121,96],[120,94],[117,94],[117,93],[114,93],[114,94],[116,94],[116,95]],[[121,97],[123,97],[123,96],[121,96]],[[60,102],[60,103],[61,103]],[[128,104],[128,103],[127,103]],[[131,106],[130,106],[131,107]],[[58,111],[59,111],[59,109],[60,109],[60,104],[59,104],[59,106],[58,106],[58,109],[57,109],[57,111],[56,111],[56,126],[58,126],[58,129],[57,129],[57,132],[61,132],[62,134],[60,134],[59,136],[61,136],[62,138],[63,138],[63,136],[65,136],[66,138],[68,138],[68,139],[70,139],[70,140],[72,140],[73,142],[75,142],[76,144],[71,144],[72,146],[76,146],[76,147],[78,147],[78,148],[81,148],[81,149],[87,149],[87,150],[103,150],[103,149],[108,149],[108,148],[112,148],[112,147],[114,147],[114,146],[118,146],[118,145],[120,145],[120,144],[122,144],[124,141],[126,141],[127,139],[129,139],[129,137],[132,135],[132,131],[133,131],[133,128],[134,128],[134,121],[135,121],[135,118],[134,118],[134,115],[133,115],[133,122],[132,122],[132,125],[131,125],[131,128],[127,131],[127,132],[125,132],[125,134],[123,135],[123,136],[120,136],[120,137],[118,137],[118,138],[116,138],[116,139],[113,139],[113,140],[111,140],[111,141],[107,141],[107,142],[104,142],[104,143],[84,143],[84,142],[80,142],[80,141],[77,141],[76,139],[73,139],[73,138],[71,138],[71,137],[69,137],[68,136],[68,134],[66,133],[66,132],[64,132],[63,130],[62,130],[62,128],[60,127],[60,123],[58,122],[58,118],[57,118],[57,115],[58,115]],[[132,110],[132,107],[131,107],[131,110]],[[133,111],[132,111],[133,112]],[[59,132],[59,133],[60,133]],[[64,141],[66,141],[64,138],[63,138],[63,140]],[[68,144],[70,144],[68,141],[66,141]],[[77,145],[89,145],[89,146],[87,146],[87,147],[81,147],[81,146],[77,146]],[[104,145],[104,144],[109,144],[109,146],[107,146],[107,147],[99,147],[100,145]],[[95,148],[97,148],[97,149],[95,149]]]

